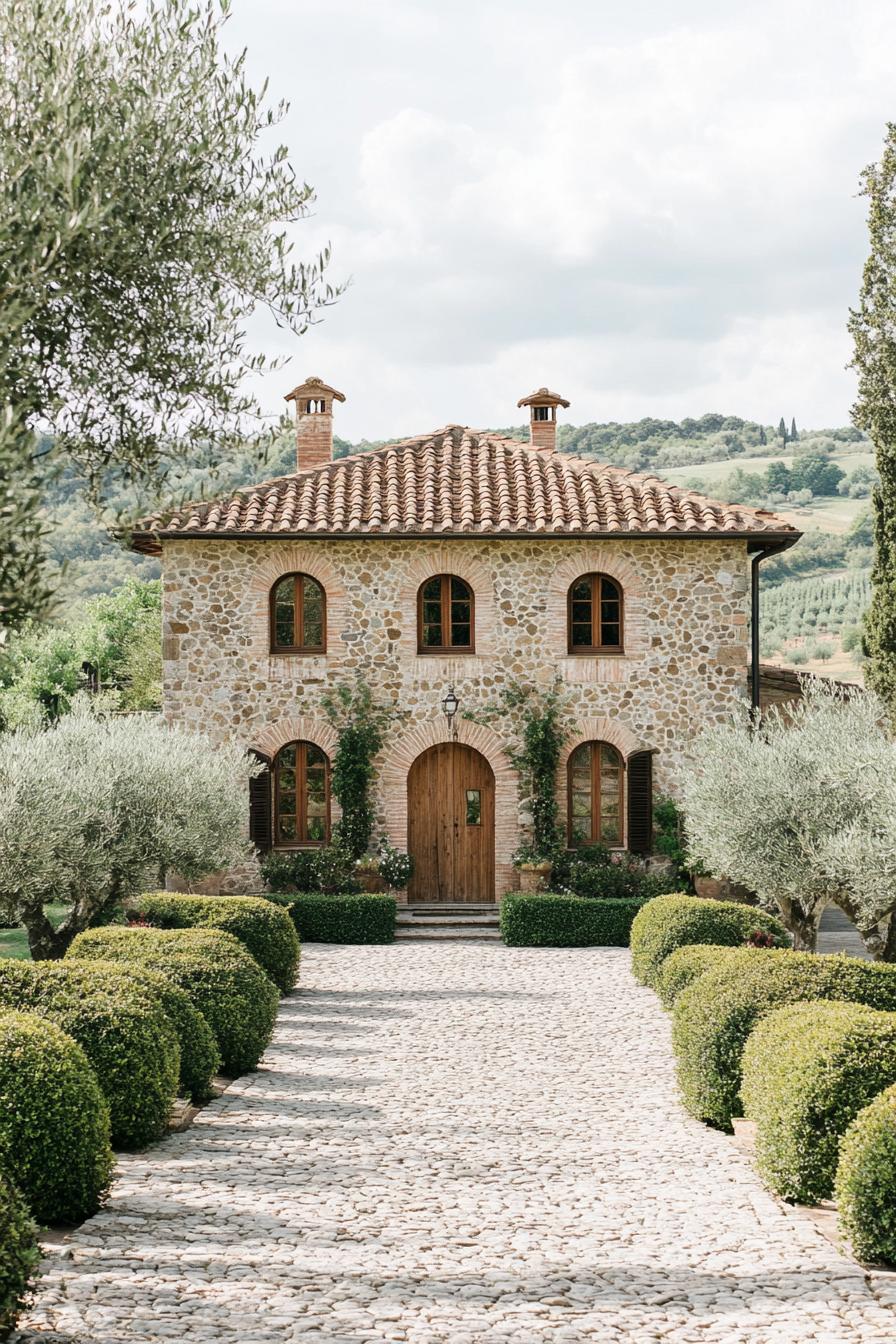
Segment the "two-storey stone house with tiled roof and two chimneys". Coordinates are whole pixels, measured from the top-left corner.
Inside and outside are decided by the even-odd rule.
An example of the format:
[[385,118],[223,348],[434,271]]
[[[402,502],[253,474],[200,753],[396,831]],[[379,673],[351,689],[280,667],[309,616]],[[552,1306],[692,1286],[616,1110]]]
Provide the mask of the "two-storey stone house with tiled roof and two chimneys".
[[287,399],[294,474],[133,538],[163,558],[165,716],[265,762],[259,848],[326,843],[336,734],[321,699],[361,675],[395,708],[376,833],[414,855],[411,900],[490,902],[514,886],[524,790],[501,724],[465,718],[510,683],[563,685],[568,844],[649,852],[653,790],[673,790],[695,734],[746,694],[751,571],[755,599],[762,556],[799,534],[557,452],[568,402],[544,387],[519,402],[529,444],[449,425],[337,461],[343,394],[309,378]]

